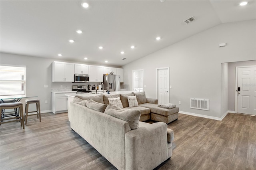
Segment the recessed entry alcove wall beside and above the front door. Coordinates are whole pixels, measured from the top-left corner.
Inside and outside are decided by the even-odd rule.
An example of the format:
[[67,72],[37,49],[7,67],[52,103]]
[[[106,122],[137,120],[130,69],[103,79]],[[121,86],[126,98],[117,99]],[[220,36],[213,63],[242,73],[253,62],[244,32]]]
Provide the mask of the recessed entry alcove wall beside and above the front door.
[[235,111],[236,67],[251,66],[251,65],[256,65],[256,60],[228,63],[228,110],[229,111]]

